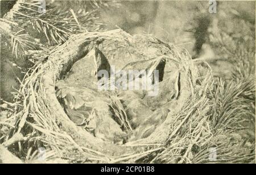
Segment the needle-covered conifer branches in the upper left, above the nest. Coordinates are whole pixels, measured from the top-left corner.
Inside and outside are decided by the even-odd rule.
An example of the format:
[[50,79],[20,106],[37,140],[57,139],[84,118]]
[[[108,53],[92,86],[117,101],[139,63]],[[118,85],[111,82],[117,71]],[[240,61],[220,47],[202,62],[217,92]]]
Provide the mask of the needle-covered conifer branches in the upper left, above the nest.
[[[66,3],[67,6],[65,6]],[[100,31],[104,25],[97,22],[97,9],[108,7],[108,3],[52,1],[47,2],[47,11],[43,14],[39,10],[41,6],[38,0],[18,0],[13,9],[0,20],[0,30],[5,35],[7,43],[11,45],[11,51],[15,57],[17,59],[24,58],[29,50],[39,48],[39,43],[32,39],[34,36],[39,36],[40,42],[43,39],[42,44],[47,47],[64,43],[72,34]],[[85,8],[81,9],[80,5]],[[74,11],[70,7],[76,10]],[[88,11],[86,9],[96,10]],[[47,43],[44,43],[44,40]]]

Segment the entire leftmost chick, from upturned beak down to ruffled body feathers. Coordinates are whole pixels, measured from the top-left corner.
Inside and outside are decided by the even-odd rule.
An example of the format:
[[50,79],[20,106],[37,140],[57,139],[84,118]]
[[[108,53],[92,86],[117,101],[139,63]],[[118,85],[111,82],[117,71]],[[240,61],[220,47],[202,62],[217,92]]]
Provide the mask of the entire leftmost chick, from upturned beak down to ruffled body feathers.
[[102,53],[92,49],[73,64],[64,80],[56,82],[56,97],[77,126],[102,140],[118,142],[126,133],[113,119],[109,92],[97,90],[97,71],[108,69],[106,63]]

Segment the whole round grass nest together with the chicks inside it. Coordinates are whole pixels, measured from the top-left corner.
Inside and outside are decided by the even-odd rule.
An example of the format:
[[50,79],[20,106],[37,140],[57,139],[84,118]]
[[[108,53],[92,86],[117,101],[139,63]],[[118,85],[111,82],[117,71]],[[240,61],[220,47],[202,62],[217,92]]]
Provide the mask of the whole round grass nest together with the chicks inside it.
[[[113,30],[73,35],[33,57],[39,60],[20,87],[16,128],[9,134],[27,157],[44,147],[48,161],[188,163],[197,159],[195,147],[212,137],[206,95],[210,71],[201,74],[183,49],[150,35]],[[89,70],[95,66],[110,71],[109,65],[144,69],[151,78],[159,70],[158,95],[151,97],[147,90],[98,91],[98,80]],[[88,97],[87,106],[81,95]],[[77,110],[86,114],[76,115]],[[116,134],[120,129],[123,137]]]

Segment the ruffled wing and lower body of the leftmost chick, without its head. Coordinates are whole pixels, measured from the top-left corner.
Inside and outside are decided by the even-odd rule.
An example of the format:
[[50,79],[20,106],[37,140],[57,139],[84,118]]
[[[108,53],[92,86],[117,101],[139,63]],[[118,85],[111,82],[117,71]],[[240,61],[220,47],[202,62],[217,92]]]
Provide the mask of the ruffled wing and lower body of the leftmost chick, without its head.
[[126,135],[112,118],[110,101],[104,93],[88,87],[72,86],[63,80],[56,83],[56,96],[65,112],[77,126],[109,142],[122,141]]

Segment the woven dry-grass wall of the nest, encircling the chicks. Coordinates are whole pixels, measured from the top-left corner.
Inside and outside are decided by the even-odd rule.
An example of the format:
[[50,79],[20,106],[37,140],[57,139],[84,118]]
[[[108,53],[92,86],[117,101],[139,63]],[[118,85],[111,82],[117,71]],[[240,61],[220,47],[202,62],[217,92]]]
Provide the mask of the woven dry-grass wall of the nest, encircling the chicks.
[[[76,126],[57,100],[55,82],[95,47],[110,64],[121,68],[129,63],[127,60],[134,61],[130,55],[134,53],[138,60],[164,55],[181,70],[180,96],[166,104],[171,112],[147,138],[122,145],[102,141]],[[220,125],[213,124],[208,94],[213,86],[211,70],[207,67],[201,71],[187,52],[174,45],[152,36],[131,36],[121,30],[89,32],[73,35],[60,47],[34,57],[38,61],[26,74],[8,119],[15,123],[15,128],[6,134],[3,143],[27,162],[35,159],[39,147],[47,148],[49,163],[207,163],[210,147],[218,147],[223,155],[230,149],[238,157],[246,152],[241,161],[255,159],[253,144],[246,149],[241,145],[229,149],[230,137],[219,138],[220,134],[225,135],[222,126],[233,118],[223,120]]]

